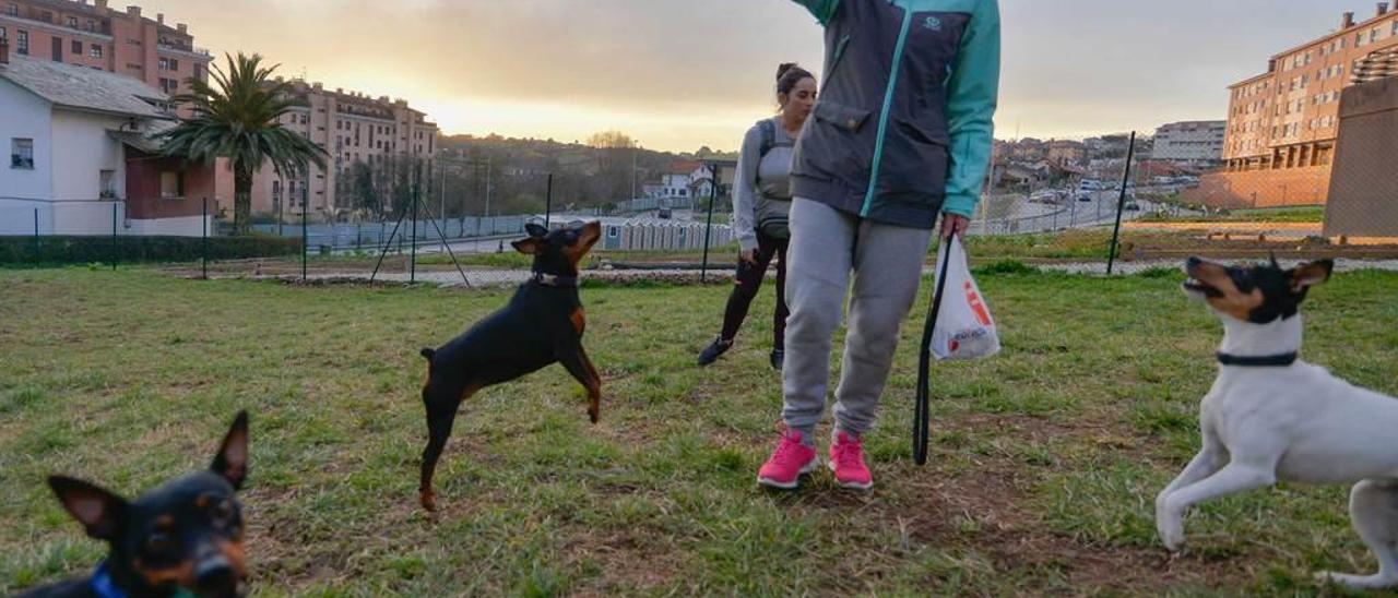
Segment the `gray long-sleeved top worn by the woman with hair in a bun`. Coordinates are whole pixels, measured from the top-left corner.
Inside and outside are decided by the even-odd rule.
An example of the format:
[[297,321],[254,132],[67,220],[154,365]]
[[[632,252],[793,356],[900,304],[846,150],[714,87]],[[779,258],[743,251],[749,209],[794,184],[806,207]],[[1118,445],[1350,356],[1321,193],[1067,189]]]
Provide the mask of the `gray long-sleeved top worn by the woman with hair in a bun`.
[[[781,117],[772,117],[776,138],[762,155],[762,124],[754,124],[742,138],[737,182],[733,190],[733,232],[744,250],[758,247],[758,228],[786,224],[791,211],[791,150],[795,140]],[[759,159],[761,158],[761,159]]]

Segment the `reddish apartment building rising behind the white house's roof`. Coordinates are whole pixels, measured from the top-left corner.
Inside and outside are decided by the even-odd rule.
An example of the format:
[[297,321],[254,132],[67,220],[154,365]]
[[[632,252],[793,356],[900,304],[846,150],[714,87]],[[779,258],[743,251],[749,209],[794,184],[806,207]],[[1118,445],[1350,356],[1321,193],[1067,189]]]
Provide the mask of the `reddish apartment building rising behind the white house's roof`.
[[207,80],[211,60],[185,24],[106,0],[0,0],[0,39],[14,54],[123,74],[166,94],[186,91],[190,77]]

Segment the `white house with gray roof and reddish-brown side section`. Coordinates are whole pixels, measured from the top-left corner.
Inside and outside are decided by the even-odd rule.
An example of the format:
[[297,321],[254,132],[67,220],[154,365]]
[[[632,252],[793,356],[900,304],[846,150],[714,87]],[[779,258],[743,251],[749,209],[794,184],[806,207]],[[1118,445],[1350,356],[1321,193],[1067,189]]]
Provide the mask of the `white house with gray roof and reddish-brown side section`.
[[200,235],[212,169],[159,156],[172,123],[141,81],[0,45],[0,235]]

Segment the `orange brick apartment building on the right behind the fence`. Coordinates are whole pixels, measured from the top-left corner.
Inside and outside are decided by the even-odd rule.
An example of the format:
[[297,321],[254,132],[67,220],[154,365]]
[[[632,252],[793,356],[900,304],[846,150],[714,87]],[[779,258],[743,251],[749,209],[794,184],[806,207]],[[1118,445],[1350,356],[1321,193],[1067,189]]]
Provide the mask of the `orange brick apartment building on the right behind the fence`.
[[1187,200],[1220,207],[1324,204],[1339,136],[1341,92],[1357,67],[1398,48],[1398,11],[1345,13],[1339,28],[1268,61],[1267,73],[1229,87],[1223,172]]

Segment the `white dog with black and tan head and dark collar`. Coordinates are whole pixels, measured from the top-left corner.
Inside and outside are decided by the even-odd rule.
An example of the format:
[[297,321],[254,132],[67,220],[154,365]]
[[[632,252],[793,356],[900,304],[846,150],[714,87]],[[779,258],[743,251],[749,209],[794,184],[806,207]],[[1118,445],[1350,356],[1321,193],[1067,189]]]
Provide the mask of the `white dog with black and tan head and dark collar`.
[[1282,270],[1190,258],[1184,291],[1223,320],[1219,376],[1204,397],[1204,449],[1155,500],[1170,550],[1184,545],[1191,506],[1278,481],[1353,485],[1350,521],[1378,573],[1323,573],[1350,588],[1398,585],[1398,400],[1357,388],[1296,358],[1300,303],[1334,264]]

